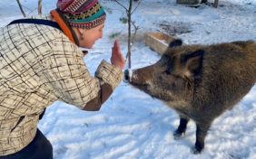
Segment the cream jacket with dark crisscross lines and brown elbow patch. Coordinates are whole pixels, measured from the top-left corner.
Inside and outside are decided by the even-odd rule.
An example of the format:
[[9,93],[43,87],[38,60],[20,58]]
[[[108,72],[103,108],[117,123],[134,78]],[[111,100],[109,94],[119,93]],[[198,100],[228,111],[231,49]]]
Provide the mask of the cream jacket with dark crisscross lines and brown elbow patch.
[[33,140],[39,115],[54,101],[98,110],[122,79],[106,61],[92,77],[79,47],[51,26],[0,28],[0,156]]

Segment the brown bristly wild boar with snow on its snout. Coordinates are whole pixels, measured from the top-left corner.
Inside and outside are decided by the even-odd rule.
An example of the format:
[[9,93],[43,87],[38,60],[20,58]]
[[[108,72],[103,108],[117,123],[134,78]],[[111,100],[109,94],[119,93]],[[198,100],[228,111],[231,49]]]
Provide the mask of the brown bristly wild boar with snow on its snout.
[[193,153],[198,154],[212,121],[254,86],[256,43],[182,45],[176,40],[155,64],[124,73],[135,88],[176,110],[180,125],[173,133],[175,139],[185,134],[190,119],[196,123]]

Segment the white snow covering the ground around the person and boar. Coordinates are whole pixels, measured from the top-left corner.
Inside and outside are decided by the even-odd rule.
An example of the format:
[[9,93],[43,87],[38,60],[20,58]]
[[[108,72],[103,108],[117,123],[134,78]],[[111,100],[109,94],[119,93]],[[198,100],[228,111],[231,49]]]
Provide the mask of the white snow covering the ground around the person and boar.
[[[127,0],[119,0],[128,5]],[[100,61],[110,61],[115,39],[127,52],[127,25],[123,7],[111,0],[100,1],[107,12],[103,39],[84,57],[94,75]],[[213,0],[209,0],[213,3]],[[43,0],[43,14],[55,8],[56,0]],[[21,0],[26,14],[37,14],[37,1]],[[135,3],[136,4],[136,3]],[[135,6],[135,4],[133,4]],[[220,0],[219,7],[192,8],[175,0],[142,0],[133,21],[140,27],[132,48],[132,69],[153,64],[160,55],[145,45],[144,33],[175,34],[184,43],[211,44],[256,40],[256,0]],[[22,14],[16,1],[0,2],[0,26]],[[119,33],[115,38],[110,38]],[[127,69],[127,64],[125,66]],[[202,154],[192,154],[195,125],[186,136],[174,140],[178,115],[162,102],[122,82],[100,111],[82,111],[56,101],[46,109],[38,127],[54,147],[54,159],[238,159],[256,158],[256,88],[212,124]]]

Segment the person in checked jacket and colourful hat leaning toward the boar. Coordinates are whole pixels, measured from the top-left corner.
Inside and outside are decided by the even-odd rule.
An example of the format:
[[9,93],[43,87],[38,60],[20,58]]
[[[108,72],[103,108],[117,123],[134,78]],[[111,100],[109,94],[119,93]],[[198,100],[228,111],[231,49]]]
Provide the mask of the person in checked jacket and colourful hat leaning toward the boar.
[[112,64],[103,60],[94,77],[79,48],[90,49],[102,38],[105,16],[97,0],[58,0],[48,15],[1,28],[1,159],[53,158],[52,145],[37,128],[45,108],[61,100],[96,111],[119,85],[125,61],[117,41]]

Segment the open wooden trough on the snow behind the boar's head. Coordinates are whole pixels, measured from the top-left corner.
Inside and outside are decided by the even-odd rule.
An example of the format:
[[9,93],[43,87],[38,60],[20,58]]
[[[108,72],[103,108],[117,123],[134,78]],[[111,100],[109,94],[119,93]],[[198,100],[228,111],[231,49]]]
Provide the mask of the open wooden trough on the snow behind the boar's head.
[[176,39],[175,37],[165,33],[146,33],[145,34],[146,45],[148,45],[153,51],[156,51],[161,55],[166,51],[169,43],[175,39]]

